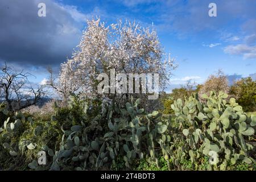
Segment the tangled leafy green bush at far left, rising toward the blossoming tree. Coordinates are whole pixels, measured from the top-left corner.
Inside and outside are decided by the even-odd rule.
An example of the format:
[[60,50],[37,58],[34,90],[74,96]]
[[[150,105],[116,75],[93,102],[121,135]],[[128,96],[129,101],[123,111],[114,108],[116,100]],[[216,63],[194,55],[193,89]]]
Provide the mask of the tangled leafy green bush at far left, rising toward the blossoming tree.
[[[35,169],[31,157],[38,158],[38,152],[42,150],[47,152],[51,164],[52,156],[60,147],[63,129],[71,126],[73,121],[79,121],[84,115],[82,105],[78,106],[75,101],[69,109],[57,106],[56,102],[52,103],[51,107],[53,108],[50,109],[53,113],[51,117],[49,117],[51,113],[36,111],[31,113],[35,116],[33,118],[26,111],[25,114],[19,112],[11,115],[4,122],[0,129],[0,163],[3,168]],[[49,120],[41,118],[49,118]],[[38,169],[49,169],[51,167],[49,164]]]

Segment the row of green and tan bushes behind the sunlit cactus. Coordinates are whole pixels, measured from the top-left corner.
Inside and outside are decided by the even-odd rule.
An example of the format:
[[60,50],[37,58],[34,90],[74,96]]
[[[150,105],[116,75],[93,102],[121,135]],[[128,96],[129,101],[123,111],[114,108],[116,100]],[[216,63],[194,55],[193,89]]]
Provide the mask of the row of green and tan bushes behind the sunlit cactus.
[[236,81],[232,86],[228,86],[228,80],[223,72],[219,71],[217,75],[209,76],[208,80],[203,85],[191,84],[190,81],[187,85],[181,86],[172,90],[172,93],[162,94],[162,104],[164,108],[160,110],[163,114],[173,114],[173,110],[170,105],[173,104],[174,100],[185,99],[192,96],[193,93],[199,94],[199,100],[203,101],[203,94],[209,96],[210,91],[214,90],[219,92],[223,90],[224,93],[228,94],[228,98],[236,98],[237,103],[242,106],[243,111],[255,113],[256,111],[256,81],[253,81],[251,77],[241,78]]

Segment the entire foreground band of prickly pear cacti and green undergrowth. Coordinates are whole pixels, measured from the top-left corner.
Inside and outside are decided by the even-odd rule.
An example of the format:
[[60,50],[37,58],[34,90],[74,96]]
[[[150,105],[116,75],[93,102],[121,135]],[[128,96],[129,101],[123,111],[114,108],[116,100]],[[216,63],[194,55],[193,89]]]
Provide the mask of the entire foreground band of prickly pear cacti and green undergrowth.
[[[71,94],[67,107],[33,117],[1,107],[3,170],[255,170],[256,115],[224,92],[145,113],[141,100],[112,102]],[[38,152],[47,163],[38,164]],[[7,160],[6,160],[7,159]]]

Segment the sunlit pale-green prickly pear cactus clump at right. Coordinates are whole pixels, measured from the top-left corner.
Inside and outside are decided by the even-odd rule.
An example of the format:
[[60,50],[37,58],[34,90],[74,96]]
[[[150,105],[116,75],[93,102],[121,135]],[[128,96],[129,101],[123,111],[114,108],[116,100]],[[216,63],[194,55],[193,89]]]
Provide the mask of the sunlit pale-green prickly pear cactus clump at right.
[[[248,154],[253,146],[245,138],[254,135],[255,115],[247,117],[242,107],[228,94],[210,92],[201,103],[197,94],[184,103],[177,100],[172,105],[179,128],[168,128],[167,133],[158,139],[165,159],[172,159],[170,169],[183,169],[183,160],[190,159],[193,169],[200,168],[202,158],[217,154],[216,164],[208,164],[208,169],[225,170],[228,163],[232,165],[245,162],[255,163]],[[170,132],[172,131],[172,133]],[[210,152],[214,151],[214,152]]]

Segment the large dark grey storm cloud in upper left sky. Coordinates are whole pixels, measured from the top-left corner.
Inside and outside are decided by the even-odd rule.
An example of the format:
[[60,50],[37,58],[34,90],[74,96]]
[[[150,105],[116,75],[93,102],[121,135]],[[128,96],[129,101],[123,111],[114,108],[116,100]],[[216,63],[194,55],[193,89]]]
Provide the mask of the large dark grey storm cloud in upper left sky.
[[[38,4],[46,4],[46,17]],[[59,65],[79,43],[86,15],[50,0],[0,1],[0,61],[19,65]]]

